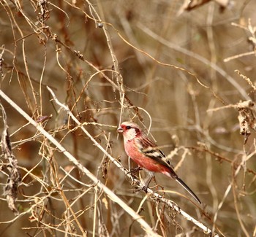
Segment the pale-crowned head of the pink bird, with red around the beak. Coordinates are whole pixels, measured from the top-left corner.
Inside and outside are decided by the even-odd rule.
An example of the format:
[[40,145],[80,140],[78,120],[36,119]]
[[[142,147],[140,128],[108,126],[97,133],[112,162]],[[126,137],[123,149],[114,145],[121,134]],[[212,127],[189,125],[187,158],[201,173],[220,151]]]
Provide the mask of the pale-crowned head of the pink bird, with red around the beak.
[[136,123],[123,122],[117,129],[118,133],[123,133],[125,140],[135,139],[141,133],[140,127]]

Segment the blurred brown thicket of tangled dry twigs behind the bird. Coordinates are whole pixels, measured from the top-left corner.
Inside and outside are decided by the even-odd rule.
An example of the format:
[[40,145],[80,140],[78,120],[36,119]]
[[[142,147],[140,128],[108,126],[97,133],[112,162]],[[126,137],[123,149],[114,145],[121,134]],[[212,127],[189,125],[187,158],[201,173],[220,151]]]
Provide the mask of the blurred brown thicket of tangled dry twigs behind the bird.
[[[159,185],[154,190],[173,191],[165,198],[220,236],[256,236],[255,108],[242,114],[251,113],[244,135],[237,109],[240,101],[255,100],[255,9],[255,1],[4,0],[0,89],[132,209],[140,209],[159,235],[205,236],[162,203],[148,198],[140,208],[146,193],[135,192],[46,86],[126,168],[116,128],[125,120],[151,125],[151,136],[203,204],[198,209],[161,174],[151,182]],[[7,101],[1,104],[21,183],[17,216],[1,191],[0,236],[81,236],[67,205],[73,201],[87,236],[146,235]],[[8,175],[1,155],[1,190]]]

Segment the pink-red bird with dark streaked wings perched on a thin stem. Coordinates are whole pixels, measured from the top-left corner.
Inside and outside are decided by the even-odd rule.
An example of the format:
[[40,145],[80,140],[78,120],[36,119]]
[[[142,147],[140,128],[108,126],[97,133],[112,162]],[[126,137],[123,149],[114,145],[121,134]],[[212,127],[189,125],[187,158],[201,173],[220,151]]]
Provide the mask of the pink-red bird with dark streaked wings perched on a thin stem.
[[154,176],[154,173],[162,173],[173,178],[184,187],[187,192],[195,198],[197,203],[201,203],[197,195],[178,177],[173,169],[170,160],[167,160],[164,152],[157,147],[154,141],[151,141],[143,129],[133,122],[123,122],[117,129],[124,137],[124,149],[127,155],[138,164],[138,168],[145,168],[150,171],[151,177],[146,182],[146,188]]

